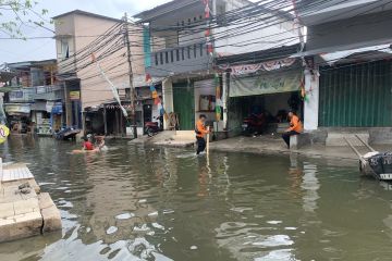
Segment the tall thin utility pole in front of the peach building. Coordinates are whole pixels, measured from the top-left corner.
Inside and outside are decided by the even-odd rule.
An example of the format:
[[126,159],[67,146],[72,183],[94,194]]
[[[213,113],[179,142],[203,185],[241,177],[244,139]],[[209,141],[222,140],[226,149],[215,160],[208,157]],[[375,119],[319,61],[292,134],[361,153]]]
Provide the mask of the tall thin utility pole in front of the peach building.
[[128,62],[128,75],[130,75],[130,87],[131,87],[131,117],[132,117],[132,128],[134,138],[137,138],[136,129],[136,102],[135,102],[135,88],[133,86],[133,72],[132,72],[132,53],[131,53],[131,44],[130,44],[130,28],[127,22],[127,14],[124,15],[124,34],[125,34],[125,44],[127,52],[127,62]]

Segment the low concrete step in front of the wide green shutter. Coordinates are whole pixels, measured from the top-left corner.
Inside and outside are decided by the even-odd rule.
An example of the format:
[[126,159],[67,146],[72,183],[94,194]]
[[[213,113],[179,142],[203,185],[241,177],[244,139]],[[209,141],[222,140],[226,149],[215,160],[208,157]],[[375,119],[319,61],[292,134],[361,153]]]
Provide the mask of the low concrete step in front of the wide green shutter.
[[356,147],[363,147],[364,144],[355,136],[358,135],[365,142],[369,142],[369,133],[328,133],[326,146],[345,147],[348,146],[344,138]]

